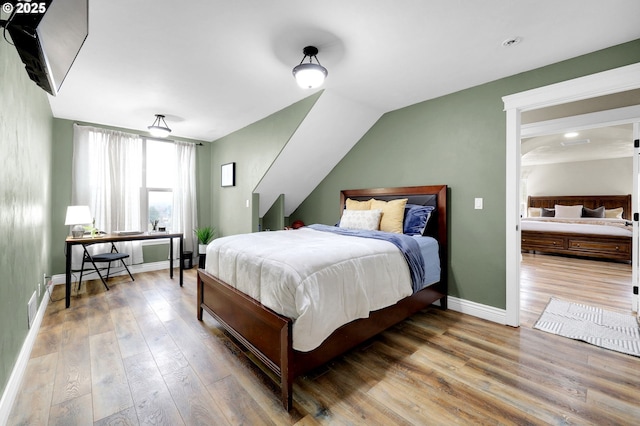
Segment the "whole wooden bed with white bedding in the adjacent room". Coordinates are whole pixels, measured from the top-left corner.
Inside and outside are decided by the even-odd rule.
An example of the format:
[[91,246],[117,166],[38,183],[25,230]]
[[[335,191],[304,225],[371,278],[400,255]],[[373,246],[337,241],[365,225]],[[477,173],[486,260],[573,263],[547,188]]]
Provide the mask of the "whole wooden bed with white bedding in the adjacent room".
[[604,208],[609,217],[522,218],[522,251],[630,262],[631,195],[530,196],[527,216],[551,215],[556,206],[580,205],[583,216]]

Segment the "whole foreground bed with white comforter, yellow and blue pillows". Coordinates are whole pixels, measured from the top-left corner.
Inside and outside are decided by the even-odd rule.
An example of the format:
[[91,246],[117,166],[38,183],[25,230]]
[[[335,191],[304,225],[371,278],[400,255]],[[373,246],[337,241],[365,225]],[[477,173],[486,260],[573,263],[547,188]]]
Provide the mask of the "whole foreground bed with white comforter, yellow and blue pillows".
[[198,270],[213,316],[280,379],[293,380],[410,315],[447,304],[447,186],[340,193],[338,226],[214,240]]

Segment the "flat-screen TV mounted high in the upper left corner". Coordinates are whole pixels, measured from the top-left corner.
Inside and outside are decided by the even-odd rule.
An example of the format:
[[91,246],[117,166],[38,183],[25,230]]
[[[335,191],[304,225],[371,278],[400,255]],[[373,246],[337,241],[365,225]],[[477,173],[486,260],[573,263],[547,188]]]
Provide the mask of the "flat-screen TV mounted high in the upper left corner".
[[55,96],[89,34],[89,1],[11,3],[6,29],[13,44],[29,77]]

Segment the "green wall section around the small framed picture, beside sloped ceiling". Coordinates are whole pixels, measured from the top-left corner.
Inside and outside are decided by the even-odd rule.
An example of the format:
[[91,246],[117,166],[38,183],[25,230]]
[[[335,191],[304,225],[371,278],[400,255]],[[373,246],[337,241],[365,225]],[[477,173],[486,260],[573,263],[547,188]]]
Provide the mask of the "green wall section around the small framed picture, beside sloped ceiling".
[[[321,93],[213,142],[211,182],[215,201],[211,206],[211,222],[219,237],[258,230],[257,198],[253,190]],[[236,163],[236,186],[222,188],[220,166],[231,162]]]

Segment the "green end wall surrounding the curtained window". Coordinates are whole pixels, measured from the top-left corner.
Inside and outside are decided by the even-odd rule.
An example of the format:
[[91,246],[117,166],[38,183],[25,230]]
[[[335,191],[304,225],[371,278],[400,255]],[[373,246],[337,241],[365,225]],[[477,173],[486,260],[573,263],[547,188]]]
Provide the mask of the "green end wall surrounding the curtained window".
[[[65,255],[64,240],[69,234],[69,227],[64,226],[64,219],[67,212],[67,206],[71,204],[71,162],[73,158],[73,123],[71,120],[53,119],[53,143],[55,150],[53,151],[53,201],[51,206],[51,273],[64,274],[65,272]],[[102,126],[99,124],[82,123],[95,127],[103,127],[108,129],[121,130],[129,133],[142,134],[139,131],[131,129],[122,129],[117,127]],[[200,141],[172,138],[192,143],[200,143]],[[196,150],[196,185],[198,193],[198,223],[200,225],[208,225],[209,214],[211,210],[211,144],[203,143]],[[197,247],[194,250],[197,253]],[[169,243],[160,245],[151,245],[143,248],[143,257],[145,263],[158,262],[167,259],[169,253]]]

